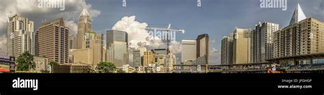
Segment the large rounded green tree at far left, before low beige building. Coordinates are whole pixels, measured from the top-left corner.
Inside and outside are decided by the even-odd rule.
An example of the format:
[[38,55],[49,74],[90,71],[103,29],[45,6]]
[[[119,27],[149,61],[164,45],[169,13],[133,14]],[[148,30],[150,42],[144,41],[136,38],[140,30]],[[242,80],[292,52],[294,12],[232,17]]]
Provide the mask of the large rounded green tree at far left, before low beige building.
[[29,54],[28,51],[18,56],[16,62],[18,71],[29,71],[36,67],[35,62],[33,62],[33,55]]

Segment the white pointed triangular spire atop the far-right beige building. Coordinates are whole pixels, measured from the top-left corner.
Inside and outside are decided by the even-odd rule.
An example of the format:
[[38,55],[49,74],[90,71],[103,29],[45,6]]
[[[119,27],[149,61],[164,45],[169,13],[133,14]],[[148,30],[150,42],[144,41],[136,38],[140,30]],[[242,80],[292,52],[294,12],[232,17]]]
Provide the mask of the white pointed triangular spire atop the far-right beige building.
[[295,24],[303,19],[306,19],[306,15],[303,13],[303,10],[301,9],[299,3],[297,4],[297,7],[295,8],[295,12],[293,14],[293,17],[291,17],[291,22],[290,24]]

